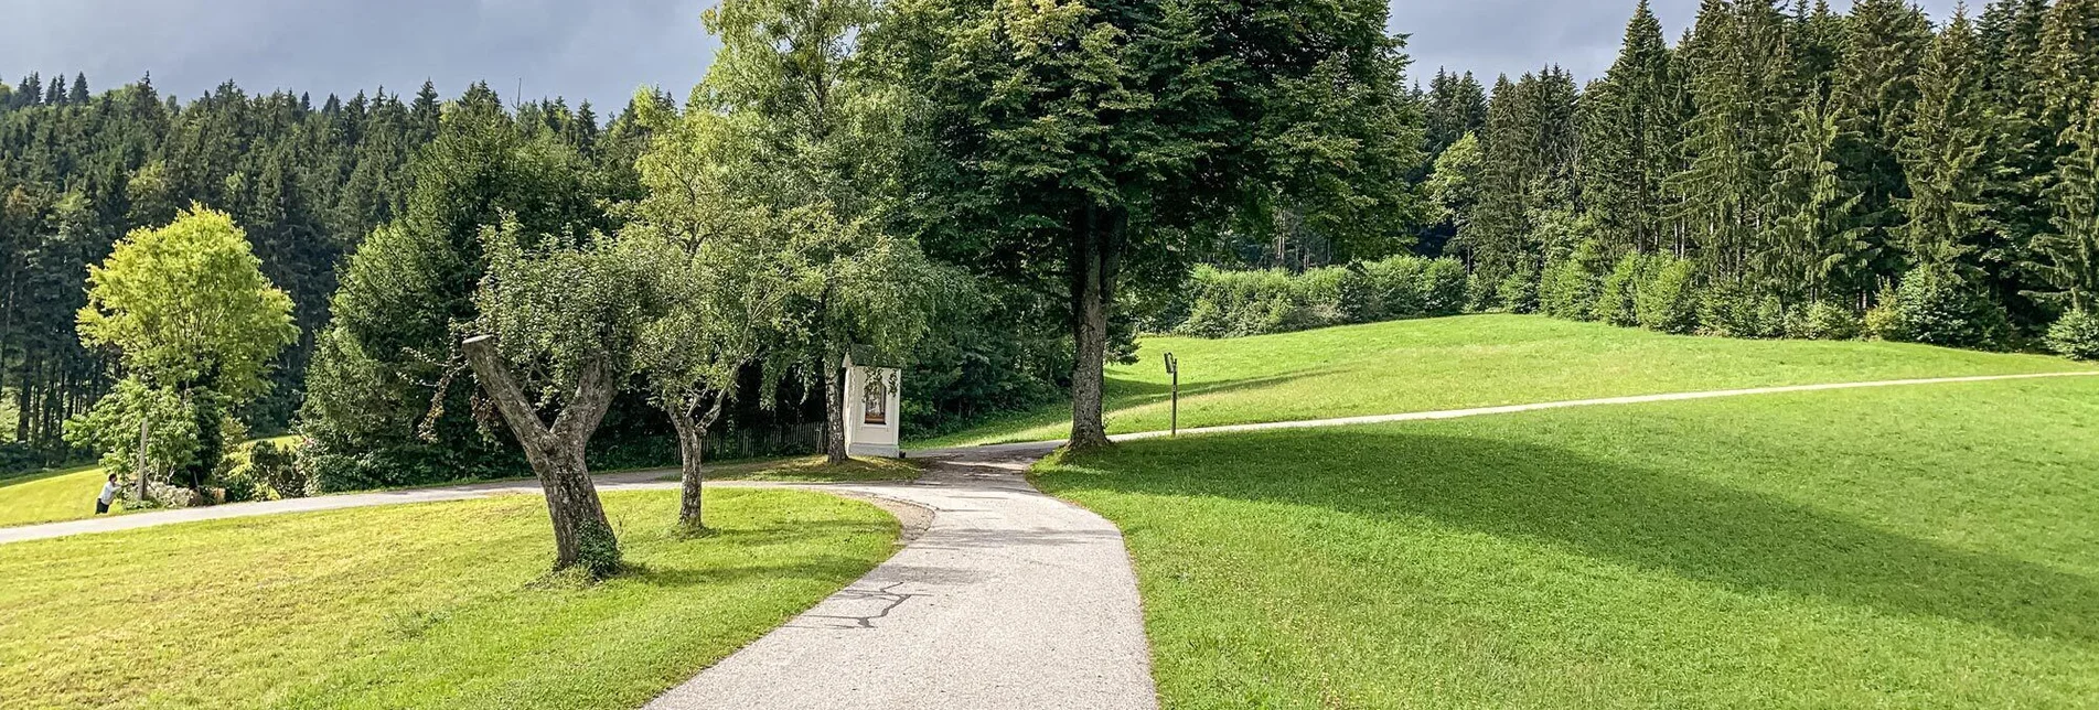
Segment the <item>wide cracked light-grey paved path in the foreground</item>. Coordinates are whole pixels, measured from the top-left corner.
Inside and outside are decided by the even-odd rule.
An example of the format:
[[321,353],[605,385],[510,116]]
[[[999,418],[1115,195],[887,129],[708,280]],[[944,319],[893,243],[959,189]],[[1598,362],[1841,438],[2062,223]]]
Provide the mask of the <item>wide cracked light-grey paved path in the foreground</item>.
[[934,508],[932,525],[646,708],[1157,708],[1123,534],[1022,479],[1043,452],[825,487]]

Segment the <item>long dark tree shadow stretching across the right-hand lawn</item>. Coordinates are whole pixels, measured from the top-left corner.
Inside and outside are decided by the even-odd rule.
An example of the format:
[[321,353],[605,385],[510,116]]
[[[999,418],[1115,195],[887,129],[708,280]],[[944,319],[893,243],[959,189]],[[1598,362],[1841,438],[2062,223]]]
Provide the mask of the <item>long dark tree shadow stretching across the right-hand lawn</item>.
[[1322,431],[1146,441],[1066,464],[1043,479],[1050,492],[1203,496],[1429,519],[1740,590],[2099,641],[2099,586],[2091,578],[1557,447]]

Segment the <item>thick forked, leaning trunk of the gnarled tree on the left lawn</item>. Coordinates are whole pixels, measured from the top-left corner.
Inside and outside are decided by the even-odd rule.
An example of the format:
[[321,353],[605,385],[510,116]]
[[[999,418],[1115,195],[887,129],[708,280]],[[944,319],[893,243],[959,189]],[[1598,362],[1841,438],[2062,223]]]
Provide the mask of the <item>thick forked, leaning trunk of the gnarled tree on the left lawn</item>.
[[546,492],[546,513],[554,523],[554,569],[584,565],[594,576],[607,576],[619,567],[619,540],[605,519],[605,504],[598,502],[598,487],[590,481],[584,464],[584,447],[605,410],[613,403],[611,376],[605,361],[584,366],[584,374],[569,393],[563,412],[554,416],[554,426],[539,420],[539,412],[525,397],[523,387],[510,374],[510,366],[495,351],[495,338],[476,336],[464,342],[466,363],[474,368],[481,389],[495,401],[510,433],[525,447],[539,487]]

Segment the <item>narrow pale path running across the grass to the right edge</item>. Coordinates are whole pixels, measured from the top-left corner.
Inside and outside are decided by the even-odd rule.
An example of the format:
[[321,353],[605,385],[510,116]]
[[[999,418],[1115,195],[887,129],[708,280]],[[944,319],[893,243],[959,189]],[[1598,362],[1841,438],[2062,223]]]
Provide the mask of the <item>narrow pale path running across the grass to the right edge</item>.
[[[1352,426],[1352,424],[1383,424],[1383,422],[1421,422],[1421,420],[1455,420],[1465,416],[1486,416],[1486,414],[1515,414],[1515,412],[1536,412],[1536,410],[1564,410],[1564,408],[1593,408],[1612,403],[1648,403],[1648,401],[1681,401],[1681,399],[1717,399],[1717,397],[1744,397],[1744,395],[1782,395],[1782,393],[1816,393],[1830,389],[1866,389],[1866,387],[1910,387],[1910,384],[1956,384],[1956,382],[1996,382],[1996,380],[2038,380],[2038,378],[2089,378],[2099,376],[2099,370],[2078,370],[2078,372],[2036,372],[2036,374],[1984,374],[1965,378],[1921,378],[1921,380],[1872,380],[1872,382],[1835,382],[1835,384],[1786,384],[1786,387],[1755,387],[1755,389],[1721,389],[1702,393],[1667,393],[1667,395],[1629,395],[1629,397],[1599,397],[1599,399],[1568,399],[1568,401],[1539,401],[1539,403],[1511,403],[1497,408],[1469,408],[1469,410],[1438,410],[1438,412],[1406,412],[1406,414],[1371,414],[1371,416],[1343,416],[1329,420],[1295,420],[1295,422],[1264,422],[1264,424],[1226,424],[1226,426],[1190,426],[1182,429],[1182,435],[1226,435],[1245,431],[1272,431],[1272,429],[1316,429],[1316,426]],[[1140,431],[1127,435],[1110,435],[1110,441],[1142,441],[1142,439],[1163,439],[1171,433],[1165,431]],[[987,445],[963,445],[947,450],[913,450],[909,456],[951,456],[959,452],[1031,452],[1043,447],[1058,447],[1064,439],[1056,441],[1024,441],[1024,443],[987,443]]]

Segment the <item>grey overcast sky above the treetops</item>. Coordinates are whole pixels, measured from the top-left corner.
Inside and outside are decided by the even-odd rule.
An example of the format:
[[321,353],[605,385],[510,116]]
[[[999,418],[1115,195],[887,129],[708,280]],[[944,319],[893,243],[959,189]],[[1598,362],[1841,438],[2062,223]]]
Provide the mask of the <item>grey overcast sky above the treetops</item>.
[[[510,97],[565,95],[623,105],[636,86],[684,97],[714,57],[699,11],[714,0],[0,0],[0,76],[86,71],[103,90],[145,71],[185,101],[222,80],[248,90],[447,97],[487,80]],[[1981,0],[1975,0],[1981,2]],[[1835,2],[1845,6],[1843,0]],[[1933,17],[1954,0],[1925,0]],[[1654,0],[1671,40],[1698,0]],[[1522,74],[1560,63],[1578,78],[1610,65],[1633,0],[1394,0],[1415,74],[1438,65]]]

